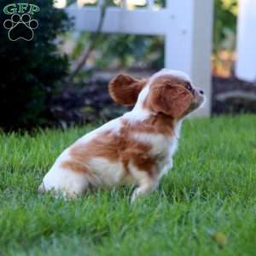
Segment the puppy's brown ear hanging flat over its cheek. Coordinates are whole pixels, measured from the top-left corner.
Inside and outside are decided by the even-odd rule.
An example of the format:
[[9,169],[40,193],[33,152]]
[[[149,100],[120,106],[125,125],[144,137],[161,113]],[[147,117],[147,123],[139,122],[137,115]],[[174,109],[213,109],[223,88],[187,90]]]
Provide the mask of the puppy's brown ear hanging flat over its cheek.
[[150,105],[156,113],[165,113],[178,119],[188,110],[193,96],[182,85],[156,86],[149,95]]

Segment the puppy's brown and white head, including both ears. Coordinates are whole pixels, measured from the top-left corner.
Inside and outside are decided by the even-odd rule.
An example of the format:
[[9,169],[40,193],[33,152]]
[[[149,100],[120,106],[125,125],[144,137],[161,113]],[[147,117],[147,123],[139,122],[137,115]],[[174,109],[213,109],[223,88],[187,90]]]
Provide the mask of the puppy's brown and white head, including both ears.
[[149,79],[119,74],[108,88],[110,96],[119,104],[139,104],[150,112],[164,113],[173,119],[183,118],[205,101],[203,91],[194,87],[185,73],[170,69],[162,69]]

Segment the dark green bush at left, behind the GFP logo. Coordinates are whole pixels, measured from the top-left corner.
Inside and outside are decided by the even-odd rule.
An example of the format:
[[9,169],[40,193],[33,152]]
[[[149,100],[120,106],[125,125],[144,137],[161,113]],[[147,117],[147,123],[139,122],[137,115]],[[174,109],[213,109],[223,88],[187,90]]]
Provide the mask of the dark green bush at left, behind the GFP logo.
[[56,38],[70,29],[71,20],[63,10],[53,8],[52,0],[32,3],[40,8],[40,12],[32,15],[32,19],[38,20],[34,37],[29,42],[13,42],[3,27],[3,22],[11,18],[3,13],[9,0],[0,2],[0,127],[4,131],[45,124],[50,114],[49,100],[67,75],[67,55],[59,53],[61,42]]

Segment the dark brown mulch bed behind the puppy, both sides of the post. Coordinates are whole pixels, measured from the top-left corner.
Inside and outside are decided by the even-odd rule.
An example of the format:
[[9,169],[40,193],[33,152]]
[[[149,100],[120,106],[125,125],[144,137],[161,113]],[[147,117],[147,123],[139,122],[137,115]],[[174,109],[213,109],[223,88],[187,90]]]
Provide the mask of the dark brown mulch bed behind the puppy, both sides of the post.
[[[111,77],[111,75],[109,76]],[[127,111],[127,108],[113,102],[108,95],[109,77],[93,78],[83,84],[73,84],[69,89],[55,96],[50,110],[57,125],[106,121]],[[256,96],[256,84],[236,78],[212,78],[212,114],[256,113],[256,102],[245,98],[229,98],[219,101],[218,96],[239,90]]]

